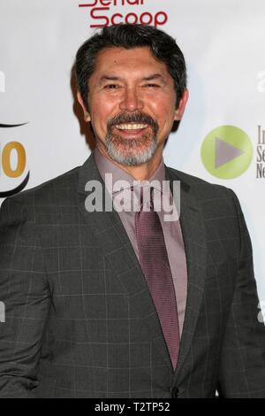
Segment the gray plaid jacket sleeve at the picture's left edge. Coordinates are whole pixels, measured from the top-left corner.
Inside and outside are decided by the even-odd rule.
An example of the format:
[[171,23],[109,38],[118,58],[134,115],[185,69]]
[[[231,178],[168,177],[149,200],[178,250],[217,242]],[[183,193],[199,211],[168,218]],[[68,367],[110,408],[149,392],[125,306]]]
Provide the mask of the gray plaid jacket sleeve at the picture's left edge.
[[0,397],[34,397],[50,293],[34,206],[19,197],[0,211]]

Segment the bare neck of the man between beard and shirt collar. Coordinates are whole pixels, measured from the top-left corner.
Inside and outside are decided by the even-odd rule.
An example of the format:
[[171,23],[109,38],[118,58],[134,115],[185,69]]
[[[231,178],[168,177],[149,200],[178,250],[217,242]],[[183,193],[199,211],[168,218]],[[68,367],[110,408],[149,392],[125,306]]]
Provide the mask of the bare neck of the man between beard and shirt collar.
[[163,154],[163,149],[160,150],[160,148],[157,148],[155,155],[153,158],[148,160],[148,162],[139,166],[127,166],[122,165],[116,162],[116,160],[110,158],[107,151],[101,146],[97,146],[97,148],[105,158],[108,158],[114,165],[118,166],[120,169],[123,169],[126,173],[129,173],[136,181],[148,181],[148,179],[151,178],[159,166]]

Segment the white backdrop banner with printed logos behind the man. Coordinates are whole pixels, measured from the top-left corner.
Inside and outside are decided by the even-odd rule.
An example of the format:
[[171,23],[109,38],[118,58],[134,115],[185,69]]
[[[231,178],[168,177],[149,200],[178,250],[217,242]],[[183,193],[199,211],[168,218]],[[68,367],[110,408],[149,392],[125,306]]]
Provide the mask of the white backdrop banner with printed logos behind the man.
[[265,312],[265,3],[262,0],[1,0],[0,203],[84,163],[91,132],[72,64],[97,27],[144,23],[177,39],[190,99],[167,165],[233,189]]

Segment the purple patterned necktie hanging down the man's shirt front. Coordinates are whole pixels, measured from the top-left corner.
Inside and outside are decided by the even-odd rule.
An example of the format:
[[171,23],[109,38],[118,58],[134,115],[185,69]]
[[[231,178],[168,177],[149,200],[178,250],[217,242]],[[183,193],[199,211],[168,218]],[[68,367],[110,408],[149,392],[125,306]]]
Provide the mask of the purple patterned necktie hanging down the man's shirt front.
[[154,211],[153,190],[151,189],[148,212],[143,210],[143,189],[140,188],[140,212],[135,212],[135,232],[140,266],[155,304],[172,366],[175,368],[179,350],[178,309],[163,228],[157,212]]

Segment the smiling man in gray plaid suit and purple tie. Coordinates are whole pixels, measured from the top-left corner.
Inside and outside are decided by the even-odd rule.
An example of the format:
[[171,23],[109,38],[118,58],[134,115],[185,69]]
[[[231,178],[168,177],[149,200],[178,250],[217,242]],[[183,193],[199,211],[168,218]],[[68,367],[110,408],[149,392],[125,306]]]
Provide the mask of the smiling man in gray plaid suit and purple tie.
[[[95,151],[1,210],[0,396],[265,397],[239,201],[163,164],[188,99],[178,45],[154,27],[104,27],[75,69]],[[134,194],[138,210],[110,209]],[[164,195],[180,198],[180,220],[155,210]]]

